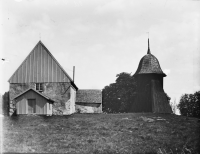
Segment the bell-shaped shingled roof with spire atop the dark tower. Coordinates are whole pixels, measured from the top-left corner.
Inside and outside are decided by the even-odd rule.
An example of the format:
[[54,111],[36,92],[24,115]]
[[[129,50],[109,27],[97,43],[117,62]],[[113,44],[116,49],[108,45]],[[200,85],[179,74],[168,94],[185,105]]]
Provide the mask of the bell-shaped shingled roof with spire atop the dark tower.
[[149,39],[148,39],[148,51],[145,56],[142,57],[140,60],[139,66],[137,71],[134,75],[139,74],[160,74],[162,76],[166,76],[165,73],[163,73],[158,59],[151,54],[150,48],[149,48]]

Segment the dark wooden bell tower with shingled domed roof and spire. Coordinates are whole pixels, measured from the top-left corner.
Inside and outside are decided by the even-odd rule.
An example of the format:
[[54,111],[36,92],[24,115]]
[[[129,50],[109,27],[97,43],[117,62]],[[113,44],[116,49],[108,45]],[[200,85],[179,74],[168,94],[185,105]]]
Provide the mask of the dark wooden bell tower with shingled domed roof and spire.
[[158,59],[151,54],[148,39],[147,54],[140,60],[134,74],[137,81],[136,98],[131,112],[171,113],[171,107],[163,90],[163,73]]

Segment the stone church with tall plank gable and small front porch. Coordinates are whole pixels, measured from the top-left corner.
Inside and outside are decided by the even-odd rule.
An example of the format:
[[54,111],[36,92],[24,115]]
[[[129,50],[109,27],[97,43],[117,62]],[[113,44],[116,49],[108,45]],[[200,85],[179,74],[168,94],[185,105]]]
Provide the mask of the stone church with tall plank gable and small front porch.
[[74,80],[39,41],[9,79],[10,115],[75,113]]

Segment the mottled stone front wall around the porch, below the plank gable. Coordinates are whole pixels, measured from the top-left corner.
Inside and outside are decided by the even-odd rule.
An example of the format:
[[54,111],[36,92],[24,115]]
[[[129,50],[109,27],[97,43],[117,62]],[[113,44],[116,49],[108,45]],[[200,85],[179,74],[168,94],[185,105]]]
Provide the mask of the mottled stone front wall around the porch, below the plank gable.
[[[54,100],[53,104],[53,115],[62,115],[63,113],[68,113],[66,109],[66,103],[70,99],[70,83],[44,83],[44,91],[42,92],[44,95],[47,95],[49,98]],[[35,83],[17,83],[10,84],[10,107],[11,114],[15,110],[15,104],[13,104],[12,100],[17,95],[21,94],[25,90],[29,88],[35,89]],[[13,109],[12,109],[13,108]]]

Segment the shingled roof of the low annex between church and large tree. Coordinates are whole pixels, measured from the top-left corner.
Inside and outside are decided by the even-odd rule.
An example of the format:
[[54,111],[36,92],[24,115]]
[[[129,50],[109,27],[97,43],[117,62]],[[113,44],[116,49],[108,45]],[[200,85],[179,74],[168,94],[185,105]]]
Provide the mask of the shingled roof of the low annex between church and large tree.
[[102,92],[98,89],[79,89],[76,92],[76,102],[102,103]]

